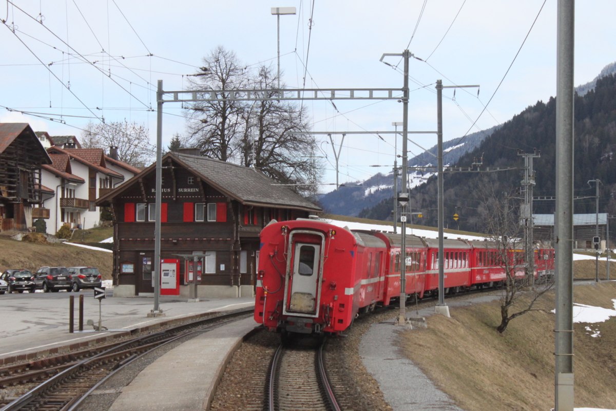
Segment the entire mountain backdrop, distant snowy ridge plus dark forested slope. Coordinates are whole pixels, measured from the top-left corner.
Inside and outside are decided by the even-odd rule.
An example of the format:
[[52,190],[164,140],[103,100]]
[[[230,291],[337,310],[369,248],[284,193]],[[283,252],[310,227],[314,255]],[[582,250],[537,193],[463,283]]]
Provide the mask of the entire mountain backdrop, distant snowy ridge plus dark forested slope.
[[[576,87],[575,99],[575,184],[580,193],[591,198],[576,201],[575,212],[594,212],[594,186],[588,180],[599,179],[601,211],[616,214],[616,63],[606,66],[593,81]],[[490,190],[519,189],[524,160],[517,153],[541,150],[533,168],[536,171],[534,195],[553,196],[556,141],[556,101],[537,102],[500,126],[444,143],[445,165],[468,166],[482,158],[482,169],[517,167],[501,173],[453,173],[445,175],[445,215],[460,214],[461,229],[477,230],[482,224],[478,193]],[[436,153],[436,146],[430,150]],[[434,157],[423,153],[409,161],[410,166],[426,166]],[[436,177],[431,173],[408,174],[413,210],[424,214],[423,224],[436,226]],[[391,220],[393,174],[377,174],[366,181],[345,184],[320,198],[331,213]],[[399,179],[400,182],[400,179]],[[400,185],[400,184],[399,184]],[[495,191],[497,192],[497,191]],[[519,194],[518,194],[519,197]],[[552,213],[554,202],[535,202],[533,212]],[[447,222],[454,224],[453,220]]]

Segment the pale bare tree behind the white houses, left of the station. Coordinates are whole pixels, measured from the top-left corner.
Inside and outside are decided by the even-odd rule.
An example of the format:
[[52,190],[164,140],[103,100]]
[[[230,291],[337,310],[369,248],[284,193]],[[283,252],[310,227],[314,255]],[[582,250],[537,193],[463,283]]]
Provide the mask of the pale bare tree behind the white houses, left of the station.
[[150,144],[147,129],[137,123],[112,121],[111,123],[89,123],[81,136],[84,149],[107,150],[118,147],[118,160],[135,167],[144,167],[153,160],[155,147]]

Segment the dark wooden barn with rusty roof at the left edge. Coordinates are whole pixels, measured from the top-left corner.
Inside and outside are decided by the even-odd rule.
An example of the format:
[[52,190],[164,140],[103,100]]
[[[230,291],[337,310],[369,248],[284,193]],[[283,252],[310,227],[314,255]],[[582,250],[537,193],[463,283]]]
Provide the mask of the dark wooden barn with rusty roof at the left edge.
[[49,218],[40,207],[44,164],[51,159],[28,123],[0,123],[0,231],[25,231],[33,219]]

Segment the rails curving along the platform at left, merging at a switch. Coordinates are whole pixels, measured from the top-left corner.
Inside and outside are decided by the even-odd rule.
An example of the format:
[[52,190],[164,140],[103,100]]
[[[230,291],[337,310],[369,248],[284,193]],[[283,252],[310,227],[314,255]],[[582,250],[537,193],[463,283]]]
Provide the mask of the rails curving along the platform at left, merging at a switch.
[[[0,411],[73,410],[103,381],[133,360],[180,338],[190,338],[239,318],[252,310],[239,310],[200,319],[139,336],[121,343],[50,357],[0,369],[0,383],[15,386],[44,380],[13,401],[0,402]],[[38,368],[38,369],[33,369]],[[7,403],[8,402],[8,403]]]

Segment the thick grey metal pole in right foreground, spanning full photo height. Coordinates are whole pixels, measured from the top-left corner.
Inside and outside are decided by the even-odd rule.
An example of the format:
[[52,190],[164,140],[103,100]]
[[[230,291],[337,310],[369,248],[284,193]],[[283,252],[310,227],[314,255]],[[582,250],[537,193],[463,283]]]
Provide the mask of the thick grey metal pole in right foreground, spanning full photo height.
[[573,411],[573,51],[575,2],[557,2],[556,410]]

